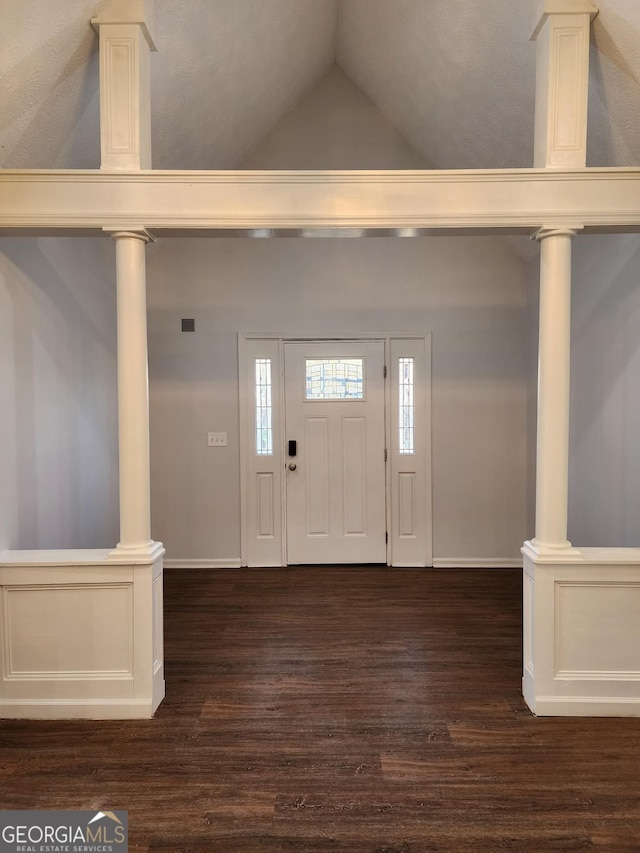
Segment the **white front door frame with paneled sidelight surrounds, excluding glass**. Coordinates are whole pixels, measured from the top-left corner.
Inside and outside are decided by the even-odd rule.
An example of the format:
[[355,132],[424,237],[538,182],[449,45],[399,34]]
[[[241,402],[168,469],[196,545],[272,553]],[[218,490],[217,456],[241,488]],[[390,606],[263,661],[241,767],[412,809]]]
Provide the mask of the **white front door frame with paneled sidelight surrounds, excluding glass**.
[[[387,565],[431,566],[431,334],[238,334],[240,401],[240,529],[243,566],[286,566],[286,493],[284,466],[285,341],[367,341],[385,343],[385,429],[387,437]],[[416,452],[397,447],[398,359],[414,359]],[[271,363],[273,448],[255,452],[255,359]]]

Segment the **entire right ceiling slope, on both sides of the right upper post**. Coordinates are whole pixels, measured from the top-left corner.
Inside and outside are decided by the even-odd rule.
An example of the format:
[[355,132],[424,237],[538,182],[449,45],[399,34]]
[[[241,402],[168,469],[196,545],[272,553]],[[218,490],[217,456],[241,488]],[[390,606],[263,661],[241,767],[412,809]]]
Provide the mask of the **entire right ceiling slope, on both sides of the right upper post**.
[[[342,0],[337,61],[432,168],[528,168],[534,5]],[[640,2],[597,5],[588,165],[640,165]]]

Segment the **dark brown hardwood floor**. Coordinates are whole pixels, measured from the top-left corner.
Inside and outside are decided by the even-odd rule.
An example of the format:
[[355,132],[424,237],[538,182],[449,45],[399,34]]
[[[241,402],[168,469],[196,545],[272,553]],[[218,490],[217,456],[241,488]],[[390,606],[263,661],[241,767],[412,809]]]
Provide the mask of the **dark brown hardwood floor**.
[[4,809],[135,853],[640,851],[640,719],[536,719],[521,573],[168,571],[154,720],[0,721]]

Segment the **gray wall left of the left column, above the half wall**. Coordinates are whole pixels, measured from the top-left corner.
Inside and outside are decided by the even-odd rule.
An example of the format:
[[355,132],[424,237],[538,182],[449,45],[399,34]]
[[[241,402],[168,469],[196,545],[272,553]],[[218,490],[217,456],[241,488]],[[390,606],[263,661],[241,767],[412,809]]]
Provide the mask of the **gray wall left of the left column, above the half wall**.
[[118,540],[115,254],[0,241],[0,549]]

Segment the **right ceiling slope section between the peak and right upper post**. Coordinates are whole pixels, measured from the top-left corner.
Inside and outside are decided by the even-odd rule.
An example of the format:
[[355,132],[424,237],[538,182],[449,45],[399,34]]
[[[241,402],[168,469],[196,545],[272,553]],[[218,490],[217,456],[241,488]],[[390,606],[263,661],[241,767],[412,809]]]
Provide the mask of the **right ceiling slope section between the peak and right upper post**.
[[337,60],[433,168],[530,166],[530,7],[345,0]]

